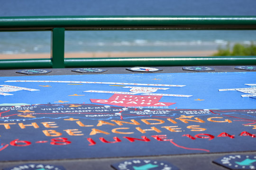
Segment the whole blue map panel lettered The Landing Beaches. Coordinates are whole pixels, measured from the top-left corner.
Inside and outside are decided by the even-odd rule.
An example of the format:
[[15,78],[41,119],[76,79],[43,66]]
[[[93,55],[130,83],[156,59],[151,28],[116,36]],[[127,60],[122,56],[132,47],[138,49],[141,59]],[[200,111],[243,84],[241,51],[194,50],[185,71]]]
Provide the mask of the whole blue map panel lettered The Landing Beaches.
[[256,151],[255,77],[0,77],[0,161]]

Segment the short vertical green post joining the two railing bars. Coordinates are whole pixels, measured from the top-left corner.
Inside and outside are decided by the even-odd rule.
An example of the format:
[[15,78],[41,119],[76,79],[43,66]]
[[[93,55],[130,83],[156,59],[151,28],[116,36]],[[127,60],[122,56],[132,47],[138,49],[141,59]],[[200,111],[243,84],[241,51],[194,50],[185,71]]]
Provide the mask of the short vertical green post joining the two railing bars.
[[53,68],[65,68],[64,37],[65,28],[53,28],[51,36],[51,59]]

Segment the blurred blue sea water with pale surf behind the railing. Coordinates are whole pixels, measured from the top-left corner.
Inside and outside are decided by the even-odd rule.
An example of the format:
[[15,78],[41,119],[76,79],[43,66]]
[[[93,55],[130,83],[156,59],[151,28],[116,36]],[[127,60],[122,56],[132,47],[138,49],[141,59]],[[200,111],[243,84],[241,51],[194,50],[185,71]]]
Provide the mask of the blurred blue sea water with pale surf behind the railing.
[[[256,15],[255,0],[12,0],[0,16]],[[49,53],[51,32],[0,32],[0,53]],[[212,51],[256,43],[254,30],[66,31],[65,52]]]

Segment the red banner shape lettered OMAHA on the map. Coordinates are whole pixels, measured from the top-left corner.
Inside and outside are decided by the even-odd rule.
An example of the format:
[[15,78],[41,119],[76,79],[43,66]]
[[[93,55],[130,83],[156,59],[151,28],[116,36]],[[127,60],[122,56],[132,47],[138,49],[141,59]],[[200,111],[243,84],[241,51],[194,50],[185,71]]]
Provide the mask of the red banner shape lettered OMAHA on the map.
[[90,99],[93,103],[123,107],[170,106],[175,103],[159,102],[162,96],[113,94],[109,99]]

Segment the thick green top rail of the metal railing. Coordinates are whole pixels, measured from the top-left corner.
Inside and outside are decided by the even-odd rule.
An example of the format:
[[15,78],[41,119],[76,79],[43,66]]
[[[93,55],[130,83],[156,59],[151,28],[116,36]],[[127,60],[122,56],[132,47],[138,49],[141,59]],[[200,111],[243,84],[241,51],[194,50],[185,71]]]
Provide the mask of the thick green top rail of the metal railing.
[[256,16],[0,17],[0,31],[99,29],[256,29]]

